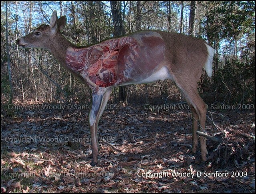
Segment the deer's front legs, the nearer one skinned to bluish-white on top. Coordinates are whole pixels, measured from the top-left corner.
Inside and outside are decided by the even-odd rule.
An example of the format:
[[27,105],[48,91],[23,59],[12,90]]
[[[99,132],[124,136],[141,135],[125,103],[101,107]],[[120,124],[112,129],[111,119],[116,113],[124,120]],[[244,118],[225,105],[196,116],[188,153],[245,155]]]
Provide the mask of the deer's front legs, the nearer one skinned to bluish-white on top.
[[107,105],[107,101],[109,99],[109,95],[111,94],[112,89],[99,88],[98,91],[92,92],[92,106],[89,115],[89,124],[90,124],[90,132],[91,132],[91,145],[92,145],[92,153],[93,160],[91,162],[92,166],[97,164],[99,155],[98,149],[98,123],[99,119]]

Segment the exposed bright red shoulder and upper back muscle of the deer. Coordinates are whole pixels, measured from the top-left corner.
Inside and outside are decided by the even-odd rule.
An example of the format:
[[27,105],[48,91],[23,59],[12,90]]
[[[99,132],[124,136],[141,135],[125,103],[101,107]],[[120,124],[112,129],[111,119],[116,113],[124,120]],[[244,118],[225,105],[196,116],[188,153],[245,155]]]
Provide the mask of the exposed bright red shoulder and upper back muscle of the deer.
[[106,40],[87,48],[69,48],[66,62],[71,69],[89,77],[97,86],[107,87],[117,81],[117,57],[125,46],[135,51],[137,41],[131,37],[123,37]]

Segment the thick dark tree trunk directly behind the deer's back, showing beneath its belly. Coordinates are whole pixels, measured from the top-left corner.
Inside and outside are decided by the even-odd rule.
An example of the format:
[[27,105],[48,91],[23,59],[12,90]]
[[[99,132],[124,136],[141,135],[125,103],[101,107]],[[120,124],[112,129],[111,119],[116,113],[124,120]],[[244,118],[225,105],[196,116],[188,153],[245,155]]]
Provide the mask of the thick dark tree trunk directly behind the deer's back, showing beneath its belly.
[[[111,5],[111,13],[113,17],[114,36],[123,36],[125,35],[125,29],[123,25],[123,19],[121,16],[121,2],[111,1],[110,5]],[[119,86],[118,99],[121,102],[127,102],[125,86]]]

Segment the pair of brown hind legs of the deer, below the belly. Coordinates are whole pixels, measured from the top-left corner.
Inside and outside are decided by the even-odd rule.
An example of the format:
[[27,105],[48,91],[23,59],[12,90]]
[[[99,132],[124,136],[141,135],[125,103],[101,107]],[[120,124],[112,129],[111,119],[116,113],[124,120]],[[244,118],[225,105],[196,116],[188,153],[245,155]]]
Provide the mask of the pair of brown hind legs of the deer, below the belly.
[[[187,83],[175,81],[177,87],[180,89],[181,93],[185,97],[187,103],[192,112],[192,128],[193,128],[193,137],[192,137],[192,152],[196,153],[196,148],[198,145],[198,119],[200,123],[200,131],[204,132],[206,127],[206,111],[208,106],[204,103],[197,90],[197,83]],[[206,154],[208,154],[206,149],[206,138],[200,136],[200,150],[201,158],[203,161],[206,161]]]

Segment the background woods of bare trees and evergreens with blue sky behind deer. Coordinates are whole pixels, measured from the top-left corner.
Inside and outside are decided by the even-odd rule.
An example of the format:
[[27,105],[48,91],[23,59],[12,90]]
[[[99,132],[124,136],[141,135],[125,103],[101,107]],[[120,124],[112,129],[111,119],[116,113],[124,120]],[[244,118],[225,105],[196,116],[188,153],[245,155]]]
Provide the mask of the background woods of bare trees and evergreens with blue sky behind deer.
[[[85,103],[90,89],[60,67],[43,49],[18,49],[15,40],[53,10],[67,16],[63,35],[78,46],[136,32],[163,30],[206,40],[216,49],[213,76],[198,82],[207,103],[255,101],[254,2],[2,2],[1,91],[9,101]],[[123,95],[120,97],[120,95]],[[114,102],[167,104],[183,101],[169,80],[117,88]]]

